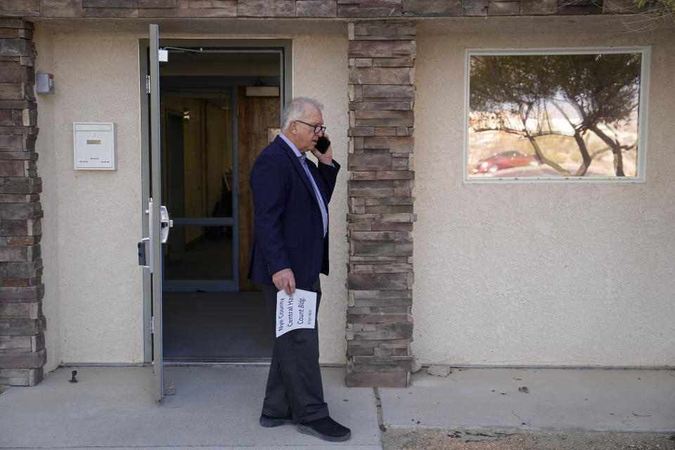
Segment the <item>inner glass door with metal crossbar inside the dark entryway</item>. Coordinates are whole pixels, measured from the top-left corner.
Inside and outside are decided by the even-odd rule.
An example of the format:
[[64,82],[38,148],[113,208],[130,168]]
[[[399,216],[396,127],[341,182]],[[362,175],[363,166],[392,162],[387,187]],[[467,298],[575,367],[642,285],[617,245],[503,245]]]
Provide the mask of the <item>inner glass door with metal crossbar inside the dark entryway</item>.
[[174,221],[163,287],[238,290],[232,91],[162,89],[161,110],[162,194]]

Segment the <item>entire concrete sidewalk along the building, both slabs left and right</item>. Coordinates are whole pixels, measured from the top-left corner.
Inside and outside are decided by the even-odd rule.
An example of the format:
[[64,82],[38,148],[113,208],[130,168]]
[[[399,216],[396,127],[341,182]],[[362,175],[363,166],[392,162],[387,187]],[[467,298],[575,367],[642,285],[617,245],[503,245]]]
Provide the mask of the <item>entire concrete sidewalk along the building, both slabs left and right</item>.
[[264,366],[167,366],[176,394],[161,404],[150,367],[80,367],[77,384],[72,369],[0,394],[0,448],[374,450],[378,396],[387,428],[675,432],[675,371],[666,370],[472,368],[442,378],[423,369],[409,388],[373,390],[347,388],[343,368],[323,368],[330,415],[352,428],[349,441],[328,443],[258,425]]

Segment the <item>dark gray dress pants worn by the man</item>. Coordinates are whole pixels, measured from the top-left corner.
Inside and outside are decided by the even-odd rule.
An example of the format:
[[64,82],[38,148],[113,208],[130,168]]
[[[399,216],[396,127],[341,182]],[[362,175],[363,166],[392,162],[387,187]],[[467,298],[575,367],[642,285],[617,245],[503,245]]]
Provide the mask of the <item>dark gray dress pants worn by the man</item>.
[[[299,286],[300,289],[307,287]],[[316,316],[319,316],[321,284],[316,280],[309,288],[317,292]],[[262,285],[271,326],[276,323],[276,293],[274,285]],[[323,384],[319,369],[319,323],[314,328],[288,331],[274,340],[262,413],[284,417],[289,414],[298,423],[328,416],[323,401]]]

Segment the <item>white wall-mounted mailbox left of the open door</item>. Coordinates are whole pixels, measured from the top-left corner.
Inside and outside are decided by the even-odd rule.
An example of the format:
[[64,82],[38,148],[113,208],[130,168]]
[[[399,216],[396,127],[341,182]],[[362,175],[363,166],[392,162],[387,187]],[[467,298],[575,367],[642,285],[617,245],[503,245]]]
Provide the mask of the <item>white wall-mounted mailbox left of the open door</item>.
[[73,122],[75,169],[115,170],[115,124]]

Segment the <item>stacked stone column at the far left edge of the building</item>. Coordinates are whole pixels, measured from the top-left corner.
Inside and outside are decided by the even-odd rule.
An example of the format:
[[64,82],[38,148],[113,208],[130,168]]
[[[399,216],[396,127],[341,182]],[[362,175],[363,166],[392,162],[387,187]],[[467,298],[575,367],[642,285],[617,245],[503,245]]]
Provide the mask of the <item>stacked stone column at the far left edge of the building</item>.
[[0,391],[39,383],[46,360],[32,32],[0,18]]

